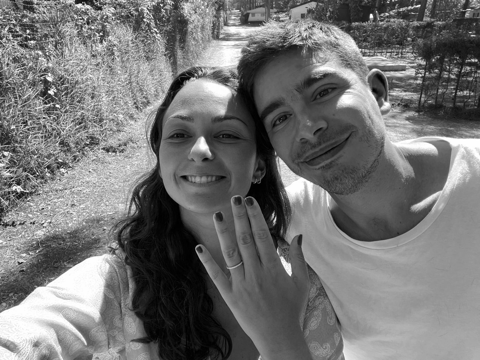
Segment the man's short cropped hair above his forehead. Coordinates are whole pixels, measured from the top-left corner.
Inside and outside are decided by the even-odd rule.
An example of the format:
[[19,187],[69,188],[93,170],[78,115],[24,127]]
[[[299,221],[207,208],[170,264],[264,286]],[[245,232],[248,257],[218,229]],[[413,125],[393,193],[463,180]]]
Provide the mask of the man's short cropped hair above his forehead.
[[[274,57],[288,51],[299,51],[304,57],[315,54],[338,60],[367,82],[369,69],[352,37],[335,25],[315,20],[271,21],[254,32],[241,50],[238,64],[240,83],[253,98],[254,79]],[[281,74],[279,74],[281,76]]]

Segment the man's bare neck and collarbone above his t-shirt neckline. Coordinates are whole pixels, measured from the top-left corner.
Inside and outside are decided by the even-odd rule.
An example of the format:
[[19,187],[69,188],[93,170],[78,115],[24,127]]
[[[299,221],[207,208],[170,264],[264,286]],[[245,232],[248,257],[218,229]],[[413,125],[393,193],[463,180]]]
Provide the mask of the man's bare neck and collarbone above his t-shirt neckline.
[[331,194],[336,225],[361,241],[394,238],[432,210],[448,177],[446,142],[393,144],[387,140],[378,168],[360,191]]

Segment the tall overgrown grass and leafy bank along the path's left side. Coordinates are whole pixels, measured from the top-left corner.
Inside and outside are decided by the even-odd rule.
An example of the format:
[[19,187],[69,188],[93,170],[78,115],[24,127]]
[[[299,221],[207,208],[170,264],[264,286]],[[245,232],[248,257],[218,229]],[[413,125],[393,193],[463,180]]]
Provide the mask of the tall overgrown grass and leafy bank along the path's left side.
[[0,218],[158,99],[211,40],[206,2],[141,1],[0,9]]

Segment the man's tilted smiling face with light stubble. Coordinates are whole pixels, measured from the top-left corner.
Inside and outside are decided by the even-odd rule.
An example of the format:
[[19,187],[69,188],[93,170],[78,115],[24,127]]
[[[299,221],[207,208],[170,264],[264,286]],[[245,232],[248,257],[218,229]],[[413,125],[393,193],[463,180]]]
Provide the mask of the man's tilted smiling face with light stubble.
[[355,72],[290,52],[261,70],[253,95],[277,155],[297,175],[338,195],[370,179],[385,128],[377,99]]

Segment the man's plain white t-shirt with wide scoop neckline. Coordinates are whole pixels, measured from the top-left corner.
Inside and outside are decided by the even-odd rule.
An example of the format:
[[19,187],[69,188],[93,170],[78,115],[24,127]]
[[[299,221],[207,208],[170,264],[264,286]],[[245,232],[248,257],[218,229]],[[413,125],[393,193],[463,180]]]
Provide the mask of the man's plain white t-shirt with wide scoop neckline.
[[346,360],[480,359],[480,140],[448,141],[450,172],[432,211],[392,239],[359,241],[335,224],[331,197],[300,179],[287,239],[303,234],[344,339]]

